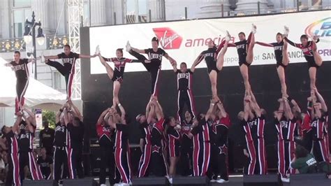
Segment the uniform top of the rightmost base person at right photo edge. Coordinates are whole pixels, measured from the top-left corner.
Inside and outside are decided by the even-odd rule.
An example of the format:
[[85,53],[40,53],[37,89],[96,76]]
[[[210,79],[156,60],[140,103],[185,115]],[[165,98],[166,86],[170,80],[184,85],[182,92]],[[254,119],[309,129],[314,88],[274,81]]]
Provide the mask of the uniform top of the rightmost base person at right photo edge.
[[328,134],[328,112],[322,112],[321,117],[315,117],[311,122],[314,140],[322,140]]

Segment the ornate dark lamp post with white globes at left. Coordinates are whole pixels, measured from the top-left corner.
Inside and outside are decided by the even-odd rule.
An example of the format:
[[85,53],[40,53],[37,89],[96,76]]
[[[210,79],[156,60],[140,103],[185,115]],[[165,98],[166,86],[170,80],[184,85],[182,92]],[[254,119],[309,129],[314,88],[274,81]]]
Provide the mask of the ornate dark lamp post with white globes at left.
[[[25,43],[29,44],[32,41],[33,46],[33,55],[36,59],[37,50],[36,50],[36,38],[38,45],[43,45],[45,42],[45,36],[43,34],[43,29],[41,29],[41,21],[36,22],[36,19],[34,18],[36,15],[34,15],[34,11],[32,12],[32,20],[29,22],[29,20],[25,20],[25,27],[24,27],[24,41]],[[36,36],[36,26],[38,26],[38,35]],[[30,31],[32,29],[32,36],[30,34]],[[34,78],[37,79],[37,62],[34,64]]]

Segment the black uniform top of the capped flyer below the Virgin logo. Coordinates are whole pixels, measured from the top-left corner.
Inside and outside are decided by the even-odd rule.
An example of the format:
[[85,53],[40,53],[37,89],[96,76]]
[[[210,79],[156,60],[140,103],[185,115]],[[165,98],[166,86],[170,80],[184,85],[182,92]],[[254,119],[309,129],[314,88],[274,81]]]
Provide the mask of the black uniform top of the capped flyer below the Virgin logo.
[[151,71],[161,69],[162,57],[163,55],[166,55],[167,52],[165,52],[162,48],[158,48],[156,52],[154,52],[153,48],[148,48],[145,49],[145,54],[148,55],[148,59],[150,61],[149,64],[146,64],[146,69],[147,71]]

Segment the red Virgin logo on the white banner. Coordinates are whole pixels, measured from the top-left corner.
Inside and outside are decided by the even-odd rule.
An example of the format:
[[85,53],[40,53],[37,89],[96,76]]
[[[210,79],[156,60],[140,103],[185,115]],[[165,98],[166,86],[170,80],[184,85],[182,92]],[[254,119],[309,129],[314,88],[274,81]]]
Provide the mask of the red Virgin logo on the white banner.
[[182,36],[168,27],[153,29],[163,49],[178,49],[182,44]]

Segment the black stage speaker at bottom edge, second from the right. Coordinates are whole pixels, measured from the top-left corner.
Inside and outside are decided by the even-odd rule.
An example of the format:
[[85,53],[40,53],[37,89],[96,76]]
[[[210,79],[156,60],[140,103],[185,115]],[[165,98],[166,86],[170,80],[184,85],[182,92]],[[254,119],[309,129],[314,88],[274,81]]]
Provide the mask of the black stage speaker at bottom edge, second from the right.
[[278,186],[279,176],[277,174],[268,175],[244,175],[244,186]]

